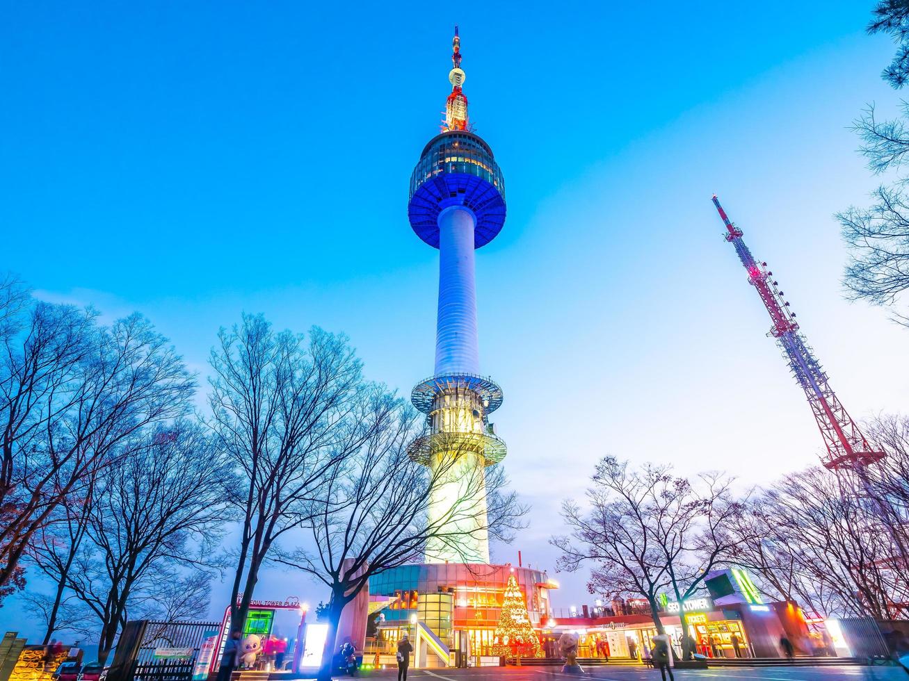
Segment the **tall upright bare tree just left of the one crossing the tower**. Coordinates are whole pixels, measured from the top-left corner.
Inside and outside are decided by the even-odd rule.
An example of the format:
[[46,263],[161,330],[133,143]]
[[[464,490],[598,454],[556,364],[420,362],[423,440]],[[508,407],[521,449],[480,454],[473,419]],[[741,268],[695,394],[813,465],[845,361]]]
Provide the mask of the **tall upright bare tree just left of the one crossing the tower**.
[[211,365],[212,429],[238,471],[229,494],[242,522],[230,607],[240,627],[275,542],[306,522],[326,471],[364,437],[350,423],[366,386],[344,336],[314,328],[307,341],[261,315],[222,330]]

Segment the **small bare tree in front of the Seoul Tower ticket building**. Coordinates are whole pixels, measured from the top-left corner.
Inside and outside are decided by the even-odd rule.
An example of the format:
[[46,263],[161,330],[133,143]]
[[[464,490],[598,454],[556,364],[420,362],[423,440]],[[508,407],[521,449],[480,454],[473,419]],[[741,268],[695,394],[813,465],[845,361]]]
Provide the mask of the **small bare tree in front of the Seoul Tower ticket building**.
[[679,603],[704,588],[704,577],[724,560],[736,539],[726,525],[741,512],[729,481],[704,475],[698,484],[677,478],[668,466],[631,469],[604,457],[597,464],[586,508],[563,504],[570,537],[552,543],[558,567],[574,571],[594,563],[588,587],[607,597],[641,595],[654,626],[663,632],[658,596],[671,589]]

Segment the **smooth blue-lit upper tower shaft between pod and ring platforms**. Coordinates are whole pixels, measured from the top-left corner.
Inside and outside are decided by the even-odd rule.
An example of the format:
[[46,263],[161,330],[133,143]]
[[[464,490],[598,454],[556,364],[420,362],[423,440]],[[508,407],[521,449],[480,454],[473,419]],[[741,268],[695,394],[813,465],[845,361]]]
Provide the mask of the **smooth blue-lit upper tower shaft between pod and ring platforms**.
[[450,206],[439,213],[439,311],[435,374],[480,372],[474,284],[474,213]]

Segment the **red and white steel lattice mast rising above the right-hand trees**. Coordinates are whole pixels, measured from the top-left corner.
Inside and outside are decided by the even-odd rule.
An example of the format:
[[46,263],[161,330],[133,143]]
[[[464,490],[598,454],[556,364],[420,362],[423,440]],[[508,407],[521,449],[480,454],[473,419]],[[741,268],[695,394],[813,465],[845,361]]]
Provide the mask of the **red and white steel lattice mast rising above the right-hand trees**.
[[789,303],[784,300],[783,291],[777,288],[773,272],[767,271],[766,262],[757,262],[742,240],[742,230],[730,222],[714,194],[714,205],[723,218],[728,231],[727,242],[735,247],[735,252],[748,271],[748,282],[761,296],[764,307],[770,314],[774,326],[767,334],[773,336],[783,349],[789,368],[795,380],[804,390],[808,404],[814,413],[814,420],[824,439],[827,457],[824,466],[828,469],[856,469],[884,458],[884,452],[875,449],[855,421],[845,410],[843,403],[827,382],[827,375],[814,352],[808,346],[804,335],[799,331],[795,313],[789,310]]

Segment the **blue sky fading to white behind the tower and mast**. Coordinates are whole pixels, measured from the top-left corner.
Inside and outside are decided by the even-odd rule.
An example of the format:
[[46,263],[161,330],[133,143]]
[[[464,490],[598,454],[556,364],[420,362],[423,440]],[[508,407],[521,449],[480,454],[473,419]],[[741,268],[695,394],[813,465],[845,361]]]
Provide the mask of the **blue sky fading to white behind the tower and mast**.
[[[345,331],[409,392],[432,372],[437,254],[407,183],[457,22],[508,201],[477,252],[481,362],[533,504],[495,558],[553,568],[560,500],[605,453],[749,484],[816,460],[713,192],[847,408],[904,408],[909,331],[844,301],[832,218],[875,185],[848,126],[899,100],[871,2],[313,5],[0,2],[0,269],[144,312],[202,375],[218,327],[262,311]],[[557,577],[559,604],[588,599]],[[320,596],[281,572],[261,591]]]

